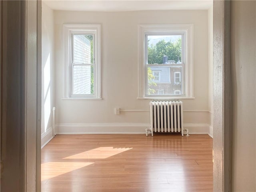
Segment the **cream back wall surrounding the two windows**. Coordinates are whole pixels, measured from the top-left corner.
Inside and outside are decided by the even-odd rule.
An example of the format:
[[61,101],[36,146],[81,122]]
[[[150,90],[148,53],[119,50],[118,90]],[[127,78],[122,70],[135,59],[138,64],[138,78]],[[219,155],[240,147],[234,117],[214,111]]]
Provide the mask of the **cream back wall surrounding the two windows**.
[[[183,100],[184,122],[190,132],[209,131],[208,112],[208,12],[134,11],[72,12],[54,11],[56,54],[57,132],[144,132],[149,124],[150,100],[138,100],[138,24],[194,24],[194,97]],[[63,24],[101,24],[102,100],[63,100]],[[196,110],[196,112],[194,112]],[[112,128],[112,129],[111,129]]]

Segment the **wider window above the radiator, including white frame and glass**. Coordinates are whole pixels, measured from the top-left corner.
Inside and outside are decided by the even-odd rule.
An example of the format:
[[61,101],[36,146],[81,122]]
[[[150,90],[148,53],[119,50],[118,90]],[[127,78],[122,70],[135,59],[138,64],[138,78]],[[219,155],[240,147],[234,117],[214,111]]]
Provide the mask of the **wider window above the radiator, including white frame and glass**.
[[[193,98],[193,25],[139,25],[138,28],[138,98]],[[158,90],[163,90],[164,97]],[[180,92],[176,94],[174,90]]]

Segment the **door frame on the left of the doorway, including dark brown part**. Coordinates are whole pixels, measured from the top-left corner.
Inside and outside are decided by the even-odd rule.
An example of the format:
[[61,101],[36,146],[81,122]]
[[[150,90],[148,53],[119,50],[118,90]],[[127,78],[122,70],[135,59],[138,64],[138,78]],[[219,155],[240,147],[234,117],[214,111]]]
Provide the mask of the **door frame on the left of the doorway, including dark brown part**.
[[41,1],[0,1],[2,191],[41,191]]

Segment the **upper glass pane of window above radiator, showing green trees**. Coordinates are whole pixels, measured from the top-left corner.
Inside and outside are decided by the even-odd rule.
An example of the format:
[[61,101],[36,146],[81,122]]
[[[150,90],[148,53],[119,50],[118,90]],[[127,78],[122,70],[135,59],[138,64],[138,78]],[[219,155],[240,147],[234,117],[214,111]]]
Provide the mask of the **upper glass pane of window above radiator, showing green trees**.
[[149,35],[148,64],[181,64],[181,35]]

